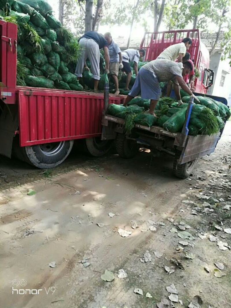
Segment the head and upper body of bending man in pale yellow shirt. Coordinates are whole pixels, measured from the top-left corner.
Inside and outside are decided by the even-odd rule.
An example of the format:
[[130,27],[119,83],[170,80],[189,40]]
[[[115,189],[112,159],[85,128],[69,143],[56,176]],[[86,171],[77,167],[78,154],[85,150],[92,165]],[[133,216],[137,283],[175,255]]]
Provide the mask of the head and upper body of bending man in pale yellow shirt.
[[177,62],[182,62],[183,57],[185,56],[186,51],[192,45],[192,40],[190,38],[184,38],[181,43],[174,44],[164,49],[157,59],[167,59]]

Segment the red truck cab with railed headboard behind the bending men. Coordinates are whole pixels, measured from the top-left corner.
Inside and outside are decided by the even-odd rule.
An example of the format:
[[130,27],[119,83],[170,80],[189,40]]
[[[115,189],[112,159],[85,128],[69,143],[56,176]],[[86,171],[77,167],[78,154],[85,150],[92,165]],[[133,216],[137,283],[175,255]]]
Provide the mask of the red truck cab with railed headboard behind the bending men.
[[181,43],[186,37],[192,39],[192,45],[188,52],[191,60],[199,70],[199,78],[195,78],[191,87],[197,93],[207,93],[213,84],[214,72],[209,69],[209,51],[201,42],[198,29],[193,30],[172,30],[162,32],[145,32],[141,41],[140,48],[145,49],[145,61],[155,60],[164,49],[170,45]]

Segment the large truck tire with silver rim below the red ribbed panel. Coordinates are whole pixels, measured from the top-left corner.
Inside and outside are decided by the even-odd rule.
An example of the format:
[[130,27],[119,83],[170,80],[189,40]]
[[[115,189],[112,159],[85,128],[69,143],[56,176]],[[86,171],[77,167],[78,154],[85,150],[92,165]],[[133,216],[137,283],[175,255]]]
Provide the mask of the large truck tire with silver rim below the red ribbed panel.
[[74,141],[60,141],[20,147],[19,142],[14,146],[15,156],[37,168],[54,168],[61,164],[71,152]]

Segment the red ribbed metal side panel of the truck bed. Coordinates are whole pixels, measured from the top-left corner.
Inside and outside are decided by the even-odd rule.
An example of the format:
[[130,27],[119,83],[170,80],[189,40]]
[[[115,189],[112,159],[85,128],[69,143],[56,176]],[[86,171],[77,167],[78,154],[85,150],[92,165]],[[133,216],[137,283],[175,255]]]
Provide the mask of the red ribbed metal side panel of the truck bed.
[[100,136],[103,107],[102,94],[18,91],[20,146]]

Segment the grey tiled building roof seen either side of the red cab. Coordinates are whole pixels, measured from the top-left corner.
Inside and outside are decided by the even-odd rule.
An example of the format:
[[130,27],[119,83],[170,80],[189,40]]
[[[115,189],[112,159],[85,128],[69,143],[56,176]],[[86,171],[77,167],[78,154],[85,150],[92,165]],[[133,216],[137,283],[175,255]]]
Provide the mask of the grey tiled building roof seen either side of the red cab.
[[[208,50],[211,50],[213,44],[216,40],[217,33],[204,33],[201,32],[201,41],[205,44]],[[215,47],[215,51],[223,51],[221,47],[222,41],[224,39],[224,32],[221,32],[220,38],[218,39],[217,46]],[[127,49],[128,39],[124,37],[113,38],[115,43],[117,43],[121,50]],[[131,39],[129,48],[139,49],[140,48],[141,39]]]

